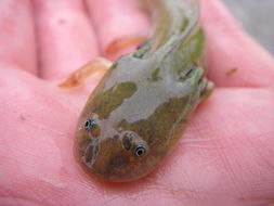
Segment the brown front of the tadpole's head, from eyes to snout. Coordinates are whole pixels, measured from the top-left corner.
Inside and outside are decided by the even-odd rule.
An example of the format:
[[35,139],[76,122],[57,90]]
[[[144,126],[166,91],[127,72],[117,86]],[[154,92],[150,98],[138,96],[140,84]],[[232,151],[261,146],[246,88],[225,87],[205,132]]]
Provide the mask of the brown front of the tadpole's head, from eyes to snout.
[[145,176],[154,168],[155,159],[149,157],[149,145],[142,137],[134,131],[105,126],[109,123],[92,116],[92,120],[88,118],[80,126],[75,144],[75,154],[86,172],[120,182]]

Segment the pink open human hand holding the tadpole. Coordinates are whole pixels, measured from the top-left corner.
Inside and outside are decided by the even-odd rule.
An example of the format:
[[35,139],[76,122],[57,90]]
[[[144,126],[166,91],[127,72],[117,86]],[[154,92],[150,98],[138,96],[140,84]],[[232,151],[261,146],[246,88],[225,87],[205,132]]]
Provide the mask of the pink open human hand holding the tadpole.
[[104,72],[57,85],[147,18],[128,0],[31,2],[0,1],[0,205],[274,205],[274,59],[218,0],[201,1],[214,92],[158,169],[118,184],[87,177],[71,151]]

